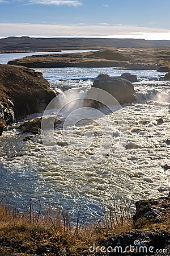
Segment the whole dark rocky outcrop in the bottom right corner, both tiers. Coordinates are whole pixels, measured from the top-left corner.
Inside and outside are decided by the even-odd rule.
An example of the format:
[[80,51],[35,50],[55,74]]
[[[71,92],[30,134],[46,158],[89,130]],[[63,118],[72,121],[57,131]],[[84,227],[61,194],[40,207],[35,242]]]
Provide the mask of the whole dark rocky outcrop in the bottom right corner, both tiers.
[[[170,194],[170,193],[169,193]],[[169,195],[170,196],[170,195]],[[170,197],[160,197],[158,199],[141,200],[135,203],[136,213],[133,217],[134,226],[142,223],[144,229],[133,229],[126,233],[109,236],[103,245],[106,248],[116,249],[109,255],[169,255],[156,253],[156,249],[169,249],[170,233],[169,233],[169,213],[170,213]],[[157,225],[157,226],[156,226]],[[162,229],[159,228],[159,226]],[[146,228],[149,226],[150,228]],[[130,247],[133,250],[130,251]],[[118,251],[118,246],[119,251]],[[151,249],[149,251],[149,248]],[[122,251],[120,251],[122,250]]]

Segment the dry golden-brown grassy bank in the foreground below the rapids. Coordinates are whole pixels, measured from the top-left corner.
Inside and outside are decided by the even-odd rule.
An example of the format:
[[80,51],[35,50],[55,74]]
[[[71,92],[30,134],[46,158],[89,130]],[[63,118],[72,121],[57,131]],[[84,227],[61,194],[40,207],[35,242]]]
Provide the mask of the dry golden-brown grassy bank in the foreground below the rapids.
[[[154,204],[151,200],[142,202],[148,210]],[[49,208],[42,214],[40,201],[38,210],[35,211],[33,201],[29,200],[27,209],[20,211],[1,200],[0,255],[103,255],[90,254],[89,247],[94,243],[102,245],[113,234],[116,236],[133,229],[150,228],[170,232],[169,205],[166,203],[168,210],[163,212],[160,222],[150,218],[146,220],[137,213],[135,218],[132,217],[131,205],[125,203],[124,207],[109,207],[103,218],[91,223],[86,222],[82,217],[83,209],[79,209],[73,223],[69,213],[59,208]]]

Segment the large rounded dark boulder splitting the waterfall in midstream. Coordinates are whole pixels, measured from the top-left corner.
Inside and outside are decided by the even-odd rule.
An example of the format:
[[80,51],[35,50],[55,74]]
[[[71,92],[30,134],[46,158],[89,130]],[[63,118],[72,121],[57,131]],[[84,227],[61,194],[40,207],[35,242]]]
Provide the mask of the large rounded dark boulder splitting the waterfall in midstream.
[[135,101],[135,90],[130,81],[113,78],[108,75],[99,75],[92,87],[99,88],[112,94],[120,103],[132,103]]

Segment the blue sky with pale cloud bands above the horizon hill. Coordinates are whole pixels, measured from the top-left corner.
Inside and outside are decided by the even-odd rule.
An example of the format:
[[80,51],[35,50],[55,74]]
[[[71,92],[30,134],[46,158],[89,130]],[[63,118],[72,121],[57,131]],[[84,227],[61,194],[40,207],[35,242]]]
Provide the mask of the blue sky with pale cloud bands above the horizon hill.
[[170,40],[169,0],[0,0],[0,38]]

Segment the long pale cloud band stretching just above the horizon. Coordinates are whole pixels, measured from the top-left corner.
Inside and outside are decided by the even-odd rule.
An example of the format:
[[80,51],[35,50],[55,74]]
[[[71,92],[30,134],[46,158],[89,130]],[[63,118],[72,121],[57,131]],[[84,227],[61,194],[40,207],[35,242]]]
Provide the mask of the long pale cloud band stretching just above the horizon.
[[34,37],[99,37],[99,38],[144,38],[170,40],[170,30],[115,25],[57,25],[57,24],[25,24],[0,23],[0,37],[7,36]]

